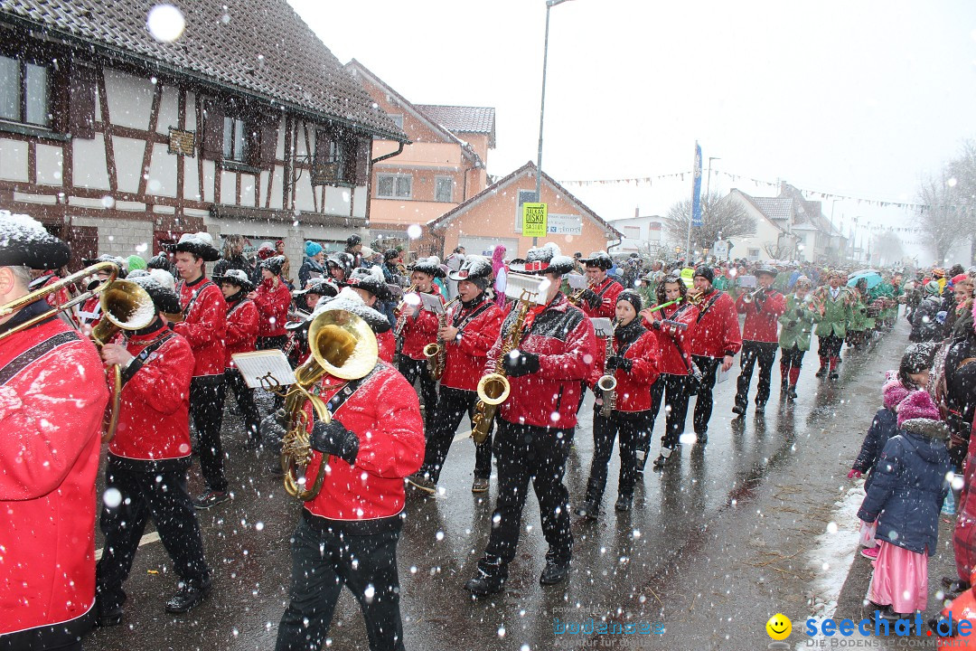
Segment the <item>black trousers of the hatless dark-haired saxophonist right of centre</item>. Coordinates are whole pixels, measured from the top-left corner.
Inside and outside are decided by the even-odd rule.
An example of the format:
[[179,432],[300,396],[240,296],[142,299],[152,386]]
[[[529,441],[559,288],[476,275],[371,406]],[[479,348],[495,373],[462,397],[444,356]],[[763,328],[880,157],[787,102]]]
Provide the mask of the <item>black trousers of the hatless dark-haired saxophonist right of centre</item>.
[[607,484],[607,468],[613,455],[613,442],[620,438],[620,478],[618,495],[633,495],[637,479],[637,441],[650,436],[650,411],[620,412],[603,416],[600,408],[593,409],[593,460],[587,482],[587,501],[599,503]]

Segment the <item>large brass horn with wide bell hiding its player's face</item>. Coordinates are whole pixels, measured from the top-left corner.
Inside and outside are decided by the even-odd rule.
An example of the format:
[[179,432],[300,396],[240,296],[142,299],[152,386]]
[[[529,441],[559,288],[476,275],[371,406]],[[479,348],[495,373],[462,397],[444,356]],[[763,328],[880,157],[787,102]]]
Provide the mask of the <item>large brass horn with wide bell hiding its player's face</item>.
[[376,366],[380,356],[373,329],[365,320],[345,309],[326,309],[312,319],[308,326],[308,347],[311,355],[295,369],[295,384],[285,392],[288,427],[281,446],[285,491],[305,502],[314,500],[322,490],[328,466],[328,459],[321,459],[311,487],[305,486],[305,471],[312,461],[308,444],[311,423],[305,413],[305,403],[311,404],[320,421],[328,423],[332,420],[325,402],[312,393],[311,388],[326,374],[346,380],[344,384],[364,378]]

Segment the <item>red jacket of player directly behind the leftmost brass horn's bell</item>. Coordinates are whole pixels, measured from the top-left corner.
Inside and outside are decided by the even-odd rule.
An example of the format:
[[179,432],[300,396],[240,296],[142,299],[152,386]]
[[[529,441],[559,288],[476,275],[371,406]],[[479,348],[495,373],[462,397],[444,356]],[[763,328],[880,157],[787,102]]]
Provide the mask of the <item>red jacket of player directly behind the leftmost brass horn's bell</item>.
[[183,323],[175,324],[173,330],[193,349],[193,377],[223,375],[227,304],[221,288],[200,278],[192,285],[180,281],[177,293],[183,305]]

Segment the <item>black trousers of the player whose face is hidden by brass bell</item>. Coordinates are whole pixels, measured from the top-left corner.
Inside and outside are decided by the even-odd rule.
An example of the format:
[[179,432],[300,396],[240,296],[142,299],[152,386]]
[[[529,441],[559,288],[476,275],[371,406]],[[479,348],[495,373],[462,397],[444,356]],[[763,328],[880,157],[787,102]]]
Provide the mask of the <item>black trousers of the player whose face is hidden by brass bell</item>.
[[325,648],[344,585],[359,601],[371,651],[402,651],[396,522],[390,530],[355,536],[302,511],[292,535],[291,602],[278,625],[276,651]]

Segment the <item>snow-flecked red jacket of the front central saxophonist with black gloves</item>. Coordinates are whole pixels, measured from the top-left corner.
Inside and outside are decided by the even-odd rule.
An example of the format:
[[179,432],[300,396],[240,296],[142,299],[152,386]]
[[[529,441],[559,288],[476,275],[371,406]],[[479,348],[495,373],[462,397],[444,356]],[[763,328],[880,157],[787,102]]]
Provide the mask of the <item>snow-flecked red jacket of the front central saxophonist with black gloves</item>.
[[[517,313],[514,308],[508,313],[498,341],[488,351],[485,374],[495,372],[502,343]],[[531,323],[528,319],[526,323],[527,334],[518,348],[539,354],[539,372],[508,379],[511,393],[502,403],[499,416],[508,423],[576,427],[582,382],[590,373],[595,354],[593,325],[562,293],[556,294]]]

